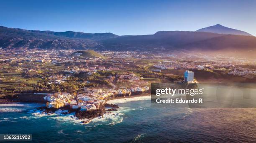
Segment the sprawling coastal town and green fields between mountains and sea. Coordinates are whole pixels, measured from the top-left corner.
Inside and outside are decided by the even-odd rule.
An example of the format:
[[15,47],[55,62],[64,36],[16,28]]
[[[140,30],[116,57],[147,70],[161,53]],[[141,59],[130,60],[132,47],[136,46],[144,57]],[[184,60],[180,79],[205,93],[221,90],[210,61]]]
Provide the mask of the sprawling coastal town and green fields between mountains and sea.
[[[37,49],[0,49],[0,53],[1,97],[52,94],[47,97],[49,107],[95,108],[112,94],[129,96],[135,89],[149,90],[151,83],[184,81],[186,70],[195,73],[198,82],[256,81],[255,59],[221,54]],[[102,91],[88,96],[85,89]],[[88,105],[80,98],[88,99]]]

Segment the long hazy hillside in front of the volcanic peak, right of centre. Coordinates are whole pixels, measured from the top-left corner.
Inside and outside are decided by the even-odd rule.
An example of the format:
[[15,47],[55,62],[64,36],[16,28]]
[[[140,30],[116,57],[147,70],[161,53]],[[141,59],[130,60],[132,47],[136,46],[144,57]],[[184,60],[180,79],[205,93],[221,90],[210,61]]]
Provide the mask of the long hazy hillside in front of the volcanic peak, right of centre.
[[256,37],[243,35],[223,35],[209,32],[161,31],[154,35],[118,37],[102,40],[105,49],[152,50],[199,49],[214,50],[255,50]]

